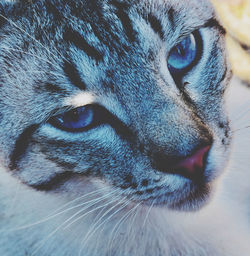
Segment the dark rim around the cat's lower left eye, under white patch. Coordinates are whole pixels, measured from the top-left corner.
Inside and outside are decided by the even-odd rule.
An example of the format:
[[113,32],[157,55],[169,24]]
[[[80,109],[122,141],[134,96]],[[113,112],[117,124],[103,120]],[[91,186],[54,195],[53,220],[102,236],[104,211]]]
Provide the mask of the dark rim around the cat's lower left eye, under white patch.
[[[91,114],[92,114],[91,121],[86,125],[79,128],[70,128],[70,127],[67,127],[66,125],[63,125],[63,123],[60,121],[60,119],[63,119],[63,118],[69,119],[70,115],[72,115],[72,120],[73,120],[73,115],[76,115],[78,110],[84,110],[84,109],[85,111],[91,111]],[[98,105],[94,105],[94,104],[86,105],[86,106],[71,109],[59,115],[55,115],[48,120],[48,123],[53,127],[63,131],[67,131],[71,133],[84,132],[96,126],[99,126],[101,123],[105,122],[105,115],[102,115],[101,112],[102,112],[102,108]]]

